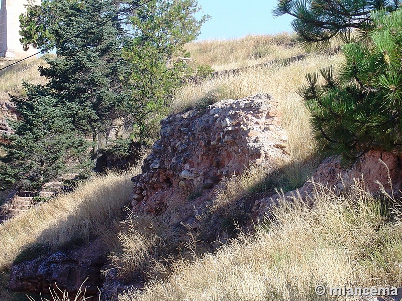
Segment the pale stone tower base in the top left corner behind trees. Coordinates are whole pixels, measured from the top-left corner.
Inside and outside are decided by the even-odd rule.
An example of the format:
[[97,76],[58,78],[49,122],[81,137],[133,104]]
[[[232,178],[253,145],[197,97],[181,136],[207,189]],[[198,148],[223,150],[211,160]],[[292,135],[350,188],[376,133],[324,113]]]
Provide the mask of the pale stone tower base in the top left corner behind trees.
[[[25,12],[24,4],[27,0],[1,0],[0,10],[0,57],[16,60],[28,57],[37,52],[36,49],[24,51],[20,43],[19,16]],[[34,4],[40,4],[41,0],[34,0]]]

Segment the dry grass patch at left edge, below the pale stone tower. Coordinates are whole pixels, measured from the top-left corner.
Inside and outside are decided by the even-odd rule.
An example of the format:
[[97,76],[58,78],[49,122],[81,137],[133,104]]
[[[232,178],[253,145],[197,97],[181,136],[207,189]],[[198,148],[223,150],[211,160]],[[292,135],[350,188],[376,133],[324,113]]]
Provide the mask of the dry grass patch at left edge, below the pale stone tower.
[[[2,61],[0,67],[5,67],[12,62]],[[12,95],[24,95],[22,82],[31,84],[45,84],[47,80],[40,76],[38,67],[46,65],[42,59],[31,59],[20,62],[5,70],[0,71],[0,100],[8,100]]]

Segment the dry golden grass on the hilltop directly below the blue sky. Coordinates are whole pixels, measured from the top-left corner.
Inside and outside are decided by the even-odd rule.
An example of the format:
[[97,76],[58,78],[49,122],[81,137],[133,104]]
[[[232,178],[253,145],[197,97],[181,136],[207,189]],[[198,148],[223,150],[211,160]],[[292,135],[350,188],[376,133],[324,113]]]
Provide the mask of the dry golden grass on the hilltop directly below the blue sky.
[[251,66],[301,53],[300,49],[294,47],[294,37],[287,33],[192,42],[185,49],[191,54],[192,64],[210,65],[216,71]]

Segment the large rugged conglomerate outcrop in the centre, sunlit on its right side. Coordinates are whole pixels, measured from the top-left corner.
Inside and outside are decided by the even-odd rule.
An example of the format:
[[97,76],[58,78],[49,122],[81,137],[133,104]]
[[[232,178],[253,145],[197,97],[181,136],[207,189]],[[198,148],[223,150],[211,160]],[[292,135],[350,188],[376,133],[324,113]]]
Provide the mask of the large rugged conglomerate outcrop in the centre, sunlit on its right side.
[[203,207],[224,178],[250,163],[275,168],[286,153],[286,133],[277,102],[267,94],[228,99],[203,111],[161,121],[161,138],[134,177],[135,213],[160,215],[180,207],[173,220],[185,222]]

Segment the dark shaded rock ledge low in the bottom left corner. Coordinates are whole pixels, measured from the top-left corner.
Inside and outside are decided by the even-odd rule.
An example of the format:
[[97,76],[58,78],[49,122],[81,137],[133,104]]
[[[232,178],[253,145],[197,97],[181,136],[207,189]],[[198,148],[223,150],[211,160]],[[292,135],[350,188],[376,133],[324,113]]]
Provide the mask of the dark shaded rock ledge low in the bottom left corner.
[[[31,261],[13,264],[9,287],[14,291],[49,293],[56,285],[72,296],[84,282],[86,295],[96,295],[104,277],[107,250],[99,240],[70,251],[59,251]],[[85,280],[86,279],[86,280]]]

